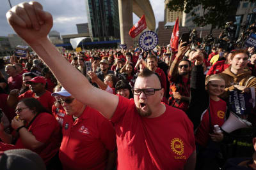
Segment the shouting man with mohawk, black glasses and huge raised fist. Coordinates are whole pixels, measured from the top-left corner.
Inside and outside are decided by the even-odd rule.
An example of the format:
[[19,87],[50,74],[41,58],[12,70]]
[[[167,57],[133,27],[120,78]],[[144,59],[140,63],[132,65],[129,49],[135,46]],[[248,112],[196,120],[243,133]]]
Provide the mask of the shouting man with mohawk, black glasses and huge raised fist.
[[[29,14],[29,16],[28,16]],[[30,18],[24,22],[21,17]],[[115,125],[117,169],[195,169],[193,124],[183,111],[161,103],[164,89],[148,69],[139,74],[134,99],[93,87],[52,45],[47,34],[52,16],[31,1],[14,6],[8,22],[44,60],[61,85],[86,106],[98,110]],[[76,88],[74,88],[76,87]]]

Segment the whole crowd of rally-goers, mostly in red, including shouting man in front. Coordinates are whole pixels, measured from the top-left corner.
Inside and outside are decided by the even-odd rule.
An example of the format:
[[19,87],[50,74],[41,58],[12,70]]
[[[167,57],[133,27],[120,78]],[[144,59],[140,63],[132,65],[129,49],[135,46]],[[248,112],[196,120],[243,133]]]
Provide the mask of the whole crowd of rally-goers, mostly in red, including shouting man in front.
[[236,114],[234,90],[255,89],[255,48],[207,53],[180,41],[172,53],[60,53],[41,4],[19,4],[6,16],[36,54],[0,59],[1,165],[6,151],[28,149],[40,169],[256,169],[255,105],[237,116],[251,127],[214,128]]

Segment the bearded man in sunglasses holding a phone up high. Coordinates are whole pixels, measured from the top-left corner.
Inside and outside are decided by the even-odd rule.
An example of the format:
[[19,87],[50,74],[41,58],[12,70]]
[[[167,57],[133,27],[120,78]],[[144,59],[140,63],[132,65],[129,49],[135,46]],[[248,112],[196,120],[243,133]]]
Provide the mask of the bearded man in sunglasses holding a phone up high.
[[190,96],[191,62],[188,59],[182,59],[186,49],[187,46],[180,43],[178,53],[168,74],[168,80],[170,81],[168,104],[183,111],[188,110]]

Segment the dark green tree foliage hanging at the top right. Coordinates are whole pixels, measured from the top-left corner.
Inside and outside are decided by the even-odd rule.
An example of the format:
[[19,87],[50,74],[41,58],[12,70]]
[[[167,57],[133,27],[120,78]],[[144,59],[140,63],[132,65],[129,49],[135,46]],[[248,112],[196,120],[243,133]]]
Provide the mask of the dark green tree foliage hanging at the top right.
[[[184,11],[191,13],[193,22],[198,27],[211,24],[212,28],[224,27],[226,22],[236,21],[237,6],[244,0],[171,0],[167,6],[170,11]],[[249,2],[255,2],[250,0]],[[203,15],[200,17],[193,10],[194,7],[202,5]]]

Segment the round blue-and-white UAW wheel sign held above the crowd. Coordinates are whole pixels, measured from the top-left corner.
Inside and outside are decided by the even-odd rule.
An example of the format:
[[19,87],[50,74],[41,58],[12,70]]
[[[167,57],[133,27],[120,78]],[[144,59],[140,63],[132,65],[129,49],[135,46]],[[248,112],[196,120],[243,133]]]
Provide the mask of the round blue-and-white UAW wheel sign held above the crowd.
[[140,47],[143,50],[152,50],[158,44],[158,37],[154,31],[145,31],[139,39]]

